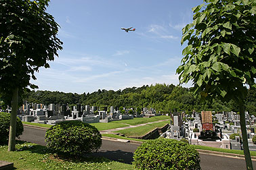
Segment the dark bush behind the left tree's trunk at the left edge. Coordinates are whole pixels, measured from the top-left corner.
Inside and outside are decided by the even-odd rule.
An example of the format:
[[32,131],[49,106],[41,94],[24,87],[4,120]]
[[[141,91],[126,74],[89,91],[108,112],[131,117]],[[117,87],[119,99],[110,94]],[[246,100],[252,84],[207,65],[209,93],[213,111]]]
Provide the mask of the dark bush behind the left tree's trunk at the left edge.
[[[7,144],[9,140],[9,125],[11,122],[11,114],[0,112],[0,144]],[[16,137],[22,135],[23,124],[20,118],[16,119]]]

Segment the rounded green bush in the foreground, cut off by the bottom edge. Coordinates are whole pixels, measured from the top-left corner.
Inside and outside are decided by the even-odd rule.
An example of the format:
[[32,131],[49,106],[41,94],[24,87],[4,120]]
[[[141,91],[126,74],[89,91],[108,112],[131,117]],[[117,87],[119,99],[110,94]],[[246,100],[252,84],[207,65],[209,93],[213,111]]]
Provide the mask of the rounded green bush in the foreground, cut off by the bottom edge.
[[133,154],[135,169],[200,169],[200,157],[194,147],[177,140],[148,140]]

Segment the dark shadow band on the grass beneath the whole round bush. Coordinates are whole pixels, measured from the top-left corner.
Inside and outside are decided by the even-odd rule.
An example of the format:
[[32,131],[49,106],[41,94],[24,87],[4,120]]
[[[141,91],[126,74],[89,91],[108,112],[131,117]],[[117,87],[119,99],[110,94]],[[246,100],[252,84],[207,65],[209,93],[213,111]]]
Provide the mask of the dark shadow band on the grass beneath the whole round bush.
[[29,151],[37,154],[49,154],[49,159],[54,161],[67,161],[72,163],[110,163],[111,161],[118,161],[121,163],[131,164],[133,161],[132,152],[123,152],[121,150],[116,151],[98,151],[91,154],[83,155],[68,155],[68,154],[57,154],[52,150],[49,150],[46,146],[38,144],[31,144],[30,142],[17,140],[16,151]]

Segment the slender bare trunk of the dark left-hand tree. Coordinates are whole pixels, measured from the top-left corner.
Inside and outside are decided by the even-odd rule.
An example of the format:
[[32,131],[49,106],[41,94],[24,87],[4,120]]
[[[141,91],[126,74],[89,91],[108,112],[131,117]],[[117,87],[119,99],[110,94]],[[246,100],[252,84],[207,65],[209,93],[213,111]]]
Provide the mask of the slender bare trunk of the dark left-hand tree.
[[15,150],[17,110],[18,110],[18,88],[15,88],[12,93],[12,112],[11,112],[11,123],[9,126],[8,151]]

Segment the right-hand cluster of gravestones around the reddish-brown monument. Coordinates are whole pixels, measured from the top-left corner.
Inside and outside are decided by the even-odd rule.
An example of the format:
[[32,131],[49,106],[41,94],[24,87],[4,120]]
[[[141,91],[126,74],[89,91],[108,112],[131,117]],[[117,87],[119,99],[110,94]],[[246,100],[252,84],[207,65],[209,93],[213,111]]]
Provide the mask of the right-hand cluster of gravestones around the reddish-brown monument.
[[[255,151],[256,144],[253,143],[253,136],[255,136],[256,119],[247,112],[245,115],[249,150]],[[240,115],[237,113],[202,111],[201,113],[194,112],[191,116],[173,113],[171,117],[173,125],[170,125],[167,132],[161,135],[163,138],[176,140],[186,138],[190,144],[194,145],[242,150]],[[230,138],[232,134],[236,136]]]

